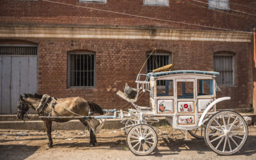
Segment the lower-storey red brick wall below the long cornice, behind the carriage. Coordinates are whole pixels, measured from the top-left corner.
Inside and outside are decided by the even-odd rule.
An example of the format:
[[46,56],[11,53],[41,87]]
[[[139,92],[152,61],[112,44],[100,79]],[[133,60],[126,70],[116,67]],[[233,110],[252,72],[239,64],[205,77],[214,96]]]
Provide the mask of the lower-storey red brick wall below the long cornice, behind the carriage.
[[[135,87],[136,74],[146,59],[146,52],[155,47],[172,52],[175,70],[213,70],[213,53],[235,53],[234,86],[220,87],[217,97],[230,96],[218,108],[248,108],[252,104],[252,44],[223,42],[187,42],[162,40],[81,40],[26,38],[38,43],[38,92],[56,97],[84,97],[97,102],[102,108],[118,108],[126,101],[116,92],[123,90],[125,83]],[[67,52],[77,49],[96,54],[96,87],[75,89],[67,87]],[[143,70],[145,72],[145,68]],[[149,95],[140,99],[140,104],[149,104]]]

